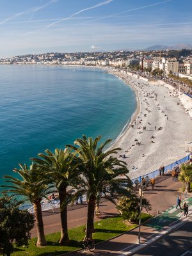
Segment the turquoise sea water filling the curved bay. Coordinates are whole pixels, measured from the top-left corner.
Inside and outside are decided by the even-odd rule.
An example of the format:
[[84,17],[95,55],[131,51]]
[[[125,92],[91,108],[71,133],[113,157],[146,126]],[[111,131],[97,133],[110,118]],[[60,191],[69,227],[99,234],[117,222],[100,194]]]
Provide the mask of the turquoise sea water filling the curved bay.
[[1,65],[0,74],[0,184],[82,134],[115,140],[136,109],[131,88],[97,68]]

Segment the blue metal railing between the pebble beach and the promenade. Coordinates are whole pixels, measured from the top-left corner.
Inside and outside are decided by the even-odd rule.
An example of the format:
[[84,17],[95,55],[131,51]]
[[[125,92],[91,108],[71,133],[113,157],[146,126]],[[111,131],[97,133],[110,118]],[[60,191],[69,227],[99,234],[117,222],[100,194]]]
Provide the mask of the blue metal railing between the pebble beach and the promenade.
[[[183,157],[182,159],[179,159],[179,160],[175,161],[172,164],[168,164],[168,165],[164,166],[164,173],[170,172],[176,166],[176,164],[183,164],[183,163],[186,163],[187,161],[189,161],[189,155],[186,156],[186,157]],[[148,176],[150,179],[156,178],[156,177],[159,176],[159,169],[154,171],[154,172],[146,173],[145,175],[142,175],[142,176],[144,176],[144,177]],[[141,176],[137,177],[137,178],[134,178],[131,181],[132,181],[133,184],[135,184],[134,182],[136,180],[138,180],[141,183]]]

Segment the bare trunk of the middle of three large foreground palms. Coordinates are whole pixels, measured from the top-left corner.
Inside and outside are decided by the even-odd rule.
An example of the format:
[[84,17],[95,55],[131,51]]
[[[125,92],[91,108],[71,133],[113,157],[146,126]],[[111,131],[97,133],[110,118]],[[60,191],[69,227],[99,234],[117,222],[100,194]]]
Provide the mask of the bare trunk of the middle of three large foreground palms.
[[61,216],[61,238],[59,243],[67,244],[69,241],[68,227],[67,227],[67,205],[65,204],[67,201],[67,189],[60,188],[59,196],[60,196],[60,216]]

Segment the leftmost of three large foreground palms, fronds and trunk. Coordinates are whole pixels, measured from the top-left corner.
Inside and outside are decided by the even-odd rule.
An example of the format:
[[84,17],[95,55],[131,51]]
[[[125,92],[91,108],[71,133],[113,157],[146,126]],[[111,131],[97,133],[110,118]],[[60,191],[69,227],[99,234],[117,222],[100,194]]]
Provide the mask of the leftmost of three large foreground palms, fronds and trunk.
[[37,242],[36,246],[45,246],[47,244],[44,234],[44,223],[42,218],[42,198],[50,193],[50,186],[46,180],[42,179],[38,166],[32,164],[28,169],[26,164],[19,164],[20,169],[15,168],[13,171],[20,175],[21,179],[16,179],[10,175],[4,175],[6,182],[11,185],[4,185],[6,193],[13,193],[12,196],[23,196],[24,200],[29,200],[33,204],[36,220]]

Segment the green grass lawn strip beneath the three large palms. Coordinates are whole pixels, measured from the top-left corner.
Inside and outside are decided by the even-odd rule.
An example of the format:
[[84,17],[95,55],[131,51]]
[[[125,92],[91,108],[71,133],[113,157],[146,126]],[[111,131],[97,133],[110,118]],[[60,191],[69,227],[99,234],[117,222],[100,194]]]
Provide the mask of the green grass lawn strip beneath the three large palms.
[[[148,220],[151,216],[149,214],[142,214],[142,222]],[[105,220],[100,220],[95,223],[95,233],[93,238],[95,243],[99,243],[110,239],[111,237],[118,236],[131,228],[136,227],[136,224],[126,225],[122,217],[113,217]],[[13,256],[44,256],[44,255],[59,255],[61,253],[71,252],[81,248],[81,241],[84,237],[85,226],[72,228],[68,231],[71,243],[69,246],[61,246],[58,244],[60,239],[60,232],[50,234],[46,236],[47,246],[38,248],[35,246],[36,239],[31,239],[29,241],[28,248],[15,248],[15,252],[12,253]]]

